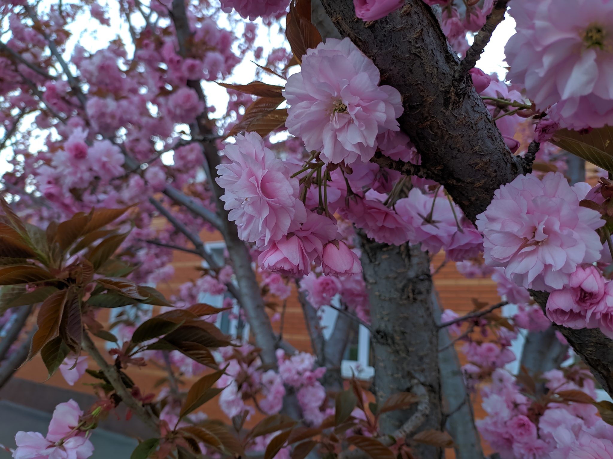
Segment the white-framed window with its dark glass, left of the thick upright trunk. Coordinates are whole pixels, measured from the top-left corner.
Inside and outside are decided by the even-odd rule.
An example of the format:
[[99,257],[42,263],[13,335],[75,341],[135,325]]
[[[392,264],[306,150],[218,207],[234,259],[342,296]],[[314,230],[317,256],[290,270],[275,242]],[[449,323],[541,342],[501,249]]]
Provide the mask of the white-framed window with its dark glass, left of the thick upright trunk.
[[[338,295],[332,299],[332,305],[340,307]],[[323,306],[319,310],[319,323],[326,340],[332,335],[339,314],[329,306]],[[371,364],[370,332],[357,321],[352,321],[351,335],[341,361],[341,376],[351,378],[352,375],[356,375],[357,379],[370,379],[375,375],[375,368]]]

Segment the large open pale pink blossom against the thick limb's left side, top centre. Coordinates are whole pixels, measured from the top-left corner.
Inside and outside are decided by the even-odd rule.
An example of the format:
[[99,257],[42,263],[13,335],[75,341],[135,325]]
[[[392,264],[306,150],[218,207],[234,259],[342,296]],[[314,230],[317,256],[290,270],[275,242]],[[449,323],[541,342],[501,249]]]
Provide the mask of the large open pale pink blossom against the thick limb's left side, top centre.
[[348,38],[327,39],[303,56],[302,70],[287,78],[285,123],[307,150],[325,162],[367,162],[379,130],[398,130],[400,93],[378,86],[379,70]]

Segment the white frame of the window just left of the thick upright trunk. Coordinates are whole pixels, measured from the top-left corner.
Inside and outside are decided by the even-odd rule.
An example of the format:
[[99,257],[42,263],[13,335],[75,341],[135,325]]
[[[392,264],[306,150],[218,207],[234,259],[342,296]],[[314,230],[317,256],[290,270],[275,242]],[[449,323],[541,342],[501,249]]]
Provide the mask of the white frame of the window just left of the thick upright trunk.
[[[340,296],[337,295],[332,299],[332,305],[340,308]],[[335,308],[322,306],[319,309],[319,324],[322,327],[322,334],[328,340],[337,323],[339,312]],[[344,349],[343,349],[343,352]],[[356,376],[357,379],[368,380],[375,376],[375,368],[369,365],[370,359],[370,331],[360,324],[357,334],[357,360],[341,360],[341,376],[343,378],[351,378]]]

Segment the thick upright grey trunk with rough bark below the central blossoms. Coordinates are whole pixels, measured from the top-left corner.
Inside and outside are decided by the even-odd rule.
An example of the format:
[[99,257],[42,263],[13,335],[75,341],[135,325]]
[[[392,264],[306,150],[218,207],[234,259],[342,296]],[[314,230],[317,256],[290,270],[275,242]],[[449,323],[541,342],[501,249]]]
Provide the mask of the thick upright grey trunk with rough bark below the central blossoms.
[[[416,431],[441,430],[438,329],[432,310],[430,258],[420,245],[379,244],[362,235],[362,267],[368,286],[371,343],[375,353],[373,386],[378,403],[408,392],[414,384],[427,389],[430,412]],[[381,417],[381,430],[392,433],[414,407]],[[441,458],[442,450],[416,444],[419,457]]]

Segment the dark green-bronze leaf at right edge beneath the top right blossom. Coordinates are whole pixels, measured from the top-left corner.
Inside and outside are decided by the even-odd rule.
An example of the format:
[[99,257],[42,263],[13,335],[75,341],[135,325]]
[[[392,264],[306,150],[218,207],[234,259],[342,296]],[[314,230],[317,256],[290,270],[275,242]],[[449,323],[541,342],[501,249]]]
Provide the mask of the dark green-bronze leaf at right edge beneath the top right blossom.
[[578,157],[613,172],[613,128],[609,126],[574,131],[557,130],[550,140],[555,146],[571,152]]

